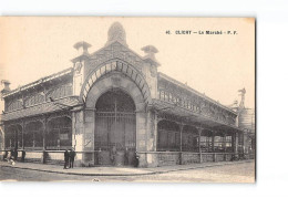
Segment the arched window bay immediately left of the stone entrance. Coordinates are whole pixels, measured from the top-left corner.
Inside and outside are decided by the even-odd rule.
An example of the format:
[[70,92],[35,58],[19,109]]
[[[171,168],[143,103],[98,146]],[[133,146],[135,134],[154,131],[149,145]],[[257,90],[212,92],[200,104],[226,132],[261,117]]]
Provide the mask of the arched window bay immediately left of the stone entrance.
[[72,122],[69,117],[56,117],[48,123],[47,148],[68,149],[72,146]]

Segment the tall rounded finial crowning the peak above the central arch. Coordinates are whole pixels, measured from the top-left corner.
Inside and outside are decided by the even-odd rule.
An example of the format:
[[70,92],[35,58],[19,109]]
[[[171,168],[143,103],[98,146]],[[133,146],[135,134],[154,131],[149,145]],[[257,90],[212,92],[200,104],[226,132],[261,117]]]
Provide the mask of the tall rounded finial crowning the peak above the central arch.
[[109,29],[109,33],[107,33],[107,42],[106,45],[113,43],[113,42],[120,42],[121,44],[127,46],[126,43],[126,32],[124,30],[124,28],[122,27],[122,24],[120,22],[114,22],[110,29]]

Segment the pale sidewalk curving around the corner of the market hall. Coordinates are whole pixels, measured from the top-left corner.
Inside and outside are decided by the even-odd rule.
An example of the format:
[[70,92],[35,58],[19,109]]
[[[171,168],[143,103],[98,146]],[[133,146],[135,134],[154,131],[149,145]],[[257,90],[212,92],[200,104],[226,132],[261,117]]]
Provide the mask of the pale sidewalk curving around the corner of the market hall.
[[203,163],[192,165],[177,165],[177,166],[164,166],[155,168],[134,168],[134,167],[74,167],[73,169],[63,169],[59,165],[45,165],[45,164],[33,164],[33,163],[17,163],[14,166],[7,161],[0,161],[1,167],[11,167],[19,169],[29,169],[45,173],[66,174],[66,175],[82,175],[82,176],[141,176],[141,175],[154,175],[165,174],[169,171],[206,168],[214,166],[224,166],[233,164],[250,163],[249,160],[238,161],[219,161],[219,163]]

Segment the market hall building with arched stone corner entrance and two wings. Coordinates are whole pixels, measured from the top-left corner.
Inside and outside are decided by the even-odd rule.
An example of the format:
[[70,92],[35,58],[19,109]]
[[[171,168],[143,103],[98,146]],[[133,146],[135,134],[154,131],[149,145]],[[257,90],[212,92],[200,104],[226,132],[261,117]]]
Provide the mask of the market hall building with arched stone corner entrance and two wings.
[[[2,81],[2,150],[25,161],[78,166],[155,167],[253,157],[238,114],[157,72],[153,45],[130,50],[115,22],[106,44],[79,42],[73,66],[10,91]],[[23,152],[24,150],[24,152]],[[9,154],[9,152],[3,155]],[[250,155],[251,154],[251,155]]]

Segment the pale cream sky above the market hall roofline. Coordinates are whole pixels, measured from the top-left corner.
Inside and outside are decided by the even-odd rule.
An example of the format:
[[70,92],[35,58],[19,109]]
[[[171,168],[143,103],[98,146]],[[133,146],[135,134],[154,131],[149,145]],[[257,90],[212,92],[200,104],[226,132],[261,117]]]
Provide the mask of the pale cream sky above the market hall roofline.
[[[0,18],[0,80],[17,88],[72,66],[73,45],[85,41],[92,53],[107,41],[119,21],[131,50],[154,45],[160,72],[224,105],[240,101],[255,107],[255,22],[244,18]],[[237,34],[176,34],[176,31],[236,31]],[[169,31],[171,34],[166,32]]]

